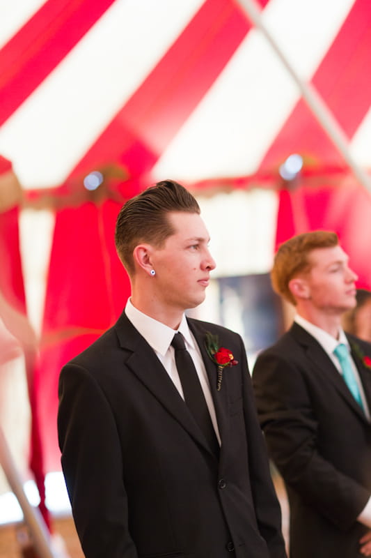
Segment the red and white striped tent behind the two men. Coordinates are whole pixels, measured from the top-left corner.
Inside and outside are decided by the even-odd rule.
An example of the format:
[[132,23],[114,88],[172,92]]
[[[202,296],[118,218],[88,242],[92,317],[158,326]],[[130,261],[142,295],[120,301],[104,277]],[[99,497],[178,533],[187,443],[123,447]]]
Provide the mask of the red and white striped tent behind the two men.
[[[255,216],[252,197],[224,205],[217,228],[231,242],[247,230],[253,246],[257,223],[276,243],[333,229],[371,287],[368,0],[13,0],[0,6],[0,47],[0,194],[13,172],[25,206],[53,215],[32,384],[47,470],[59,467],[58,372],[123,308],[114,221],[150,183],[177,179],[200,199],[264,193]],[[303,165],[285,179],[294,153]],[[102,183],[89,191],[92,172]],[[22,310],[18,209],[0,213],[0,289]]]

